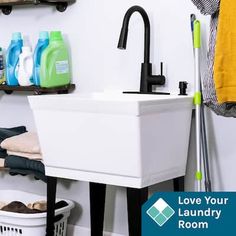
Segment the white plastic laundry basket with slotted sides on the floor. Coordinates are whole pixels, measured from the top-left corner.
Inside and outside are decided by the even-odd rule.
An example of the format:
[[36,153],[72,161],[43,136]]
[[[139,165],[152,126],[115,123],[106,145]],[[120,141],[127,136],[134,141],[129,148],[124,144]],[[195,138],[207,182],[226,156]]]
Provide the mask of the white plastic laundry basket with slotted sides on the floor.
[[[24,204],[33,203],[39,200],[46,200],[46,197],[13,190],[0,190],[0,201],[10,203],[20,201]],[[57,199],[57,201],[62,199]],[[74,203],[65,200],[68,206],[57,209],[55,215],[60,220],[55,222],[54,236],[66,236],[67,219]],[[44,236],[46,234],[45,213],[22,214],[0,210],[0,236]]]

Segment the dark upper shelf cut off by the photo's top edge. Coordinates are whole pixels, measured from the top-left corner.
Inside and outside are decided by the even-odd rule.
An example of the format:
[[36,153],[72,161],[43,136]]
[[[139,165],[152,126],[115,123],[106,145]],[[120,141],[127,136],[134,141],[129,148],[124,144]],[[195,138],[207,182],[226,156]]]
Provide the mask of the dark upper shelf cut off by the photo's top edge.
[[12,12],[12,7],[17,5],[54,5],[59,12],[64,12],[69,4],[76,0],[0,0],[0,9],[4,15]]

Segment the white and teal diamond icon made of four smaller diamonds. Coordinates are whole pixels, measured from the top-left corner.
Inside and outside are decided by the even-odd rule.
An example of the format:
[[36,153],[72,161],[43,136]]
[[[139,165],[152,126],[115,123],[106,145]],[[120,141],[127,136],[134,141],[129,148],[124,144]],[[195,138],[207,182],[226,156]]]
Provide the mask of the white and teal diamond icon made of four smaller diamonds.
[[159,198],[146,213],[159,226],[163,226],[175,214],[175,211],[162,198]]

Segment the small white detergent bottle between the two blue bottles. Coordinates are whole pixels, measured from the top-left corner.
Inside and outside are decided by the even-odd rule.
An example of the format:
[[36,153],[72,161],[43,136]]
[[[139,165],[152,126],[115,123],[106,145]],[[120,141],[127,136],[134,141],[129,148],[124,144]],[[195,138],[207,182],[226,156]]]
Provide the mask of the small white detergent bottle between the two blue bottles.
[[19,56],[18,83],[20,86],[32,85],[33,77],[33,53],[30,46],[22,47],[22,53]]

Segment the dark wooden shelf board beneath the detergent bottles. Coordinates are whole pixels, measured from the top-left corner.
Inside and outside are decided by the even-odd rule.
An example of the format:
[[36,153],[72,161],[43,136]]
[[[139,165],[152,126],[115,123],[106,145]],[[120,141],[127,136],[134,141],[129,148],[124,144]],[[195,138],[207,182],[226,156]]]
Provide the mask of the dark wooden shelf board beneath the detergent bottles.
[[6,94],[12,94],[13,92],[33,92],[35,95],[49,94],[49,93],[58,93],[65,94],[73,92],[75,90],[75,84],[69,84],[59,87],[52,88],[41,88],[39,86],[8,86],[0,85],[0,91],[4,91]]

